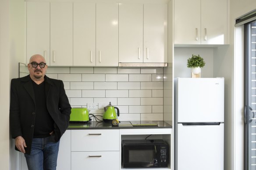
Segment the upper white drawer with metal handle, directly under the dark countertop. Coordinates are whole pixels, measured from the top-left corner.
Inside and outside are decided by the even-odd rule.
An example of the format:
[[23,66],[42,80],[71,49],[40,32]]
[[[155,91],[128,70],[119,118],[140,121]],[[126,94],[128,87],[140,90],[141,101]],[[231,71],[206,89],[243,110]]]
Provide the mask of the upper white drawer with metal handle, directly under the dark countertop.
[[119,129],[71,130],[71,151],[119,151]]

